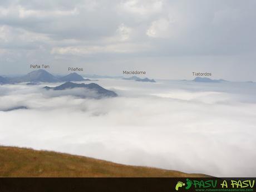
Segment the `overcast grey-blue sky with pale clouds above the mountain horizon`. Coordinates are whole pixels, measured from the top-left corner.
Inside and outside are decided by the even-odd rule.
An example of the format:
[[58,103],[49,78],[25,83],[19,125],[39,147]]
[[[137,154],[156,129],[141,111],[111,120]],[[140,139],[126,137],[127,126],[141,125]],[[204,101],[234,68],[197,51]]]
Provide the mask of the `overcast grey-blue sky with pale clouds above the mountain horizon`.
[[0,75],[50,72],[256,81],[256,1],[1,0]]

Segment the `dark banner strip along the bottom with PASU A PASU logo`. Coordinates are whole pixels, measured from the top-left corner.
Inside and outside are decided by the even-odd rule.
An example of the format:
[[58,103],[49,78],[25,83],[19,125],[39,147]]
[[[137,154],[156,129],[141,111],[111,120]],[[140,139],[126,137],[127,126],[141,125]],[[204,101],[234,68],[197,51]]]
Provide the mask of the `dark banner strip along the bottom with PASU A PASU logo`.
[[256,191],[255,178],[0,178],[0,192]]

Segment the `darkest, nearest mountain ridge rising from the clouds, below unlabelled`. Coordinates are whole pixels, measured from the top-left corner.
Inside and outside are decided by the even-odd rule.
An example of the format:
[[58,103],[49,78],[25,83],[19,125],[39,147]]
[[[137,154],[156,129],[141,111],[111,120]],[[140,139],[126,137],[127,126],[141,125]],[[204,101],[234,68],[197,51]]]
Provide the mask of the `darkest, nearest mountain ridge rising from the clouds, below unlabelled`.
[[116,97],[117,96],[117,94],[114,91],[106,90],[105,88],[99,86],[96,83],[85,84],[85,83],[66,82],[57,87],[46,86],[43,88],[45,88],[46,90],[55,90],[55,91],[67,90],[72,88],[87,88],[88,90],[96,91],[99,97]]

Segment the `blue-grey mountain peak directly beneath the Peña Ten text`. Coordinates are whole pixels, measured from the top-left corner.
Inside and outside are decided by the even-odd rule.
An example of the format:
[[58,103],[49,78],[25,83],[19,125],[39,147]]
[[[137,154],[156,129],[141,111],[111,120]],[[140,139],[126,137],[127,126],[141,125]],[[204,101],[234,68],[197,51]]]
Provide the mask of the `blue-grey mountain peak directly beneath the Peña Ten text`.
[[59,82],[57,77],[45,70],[36,70],[28,73],[23,77],[12,79],[13,82]]

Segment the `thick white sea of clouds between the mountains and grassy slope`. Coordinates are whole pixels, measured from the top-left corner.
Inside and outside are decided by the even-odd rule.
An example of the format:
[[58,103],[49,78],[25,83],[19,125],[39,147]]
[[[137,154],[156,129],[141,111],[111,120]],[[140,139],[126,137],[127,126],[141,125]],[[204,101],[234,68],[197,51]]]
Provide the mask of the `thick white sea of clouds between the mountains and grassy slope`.
[[[256,83],[96,83],[119,97],[81,99],[72,96],[79,90],[42,88],[60,83],[1,85],[0,145],[186,173],[255,176]],[[4,111],[18,106],[28,109]]]

